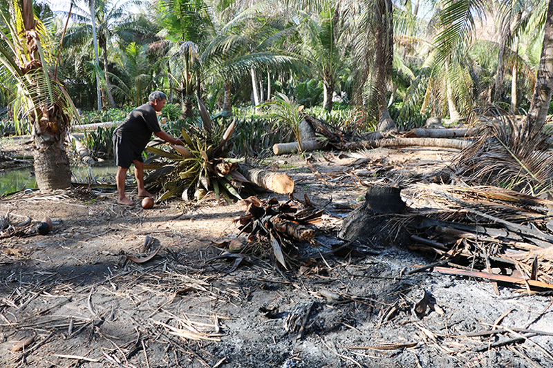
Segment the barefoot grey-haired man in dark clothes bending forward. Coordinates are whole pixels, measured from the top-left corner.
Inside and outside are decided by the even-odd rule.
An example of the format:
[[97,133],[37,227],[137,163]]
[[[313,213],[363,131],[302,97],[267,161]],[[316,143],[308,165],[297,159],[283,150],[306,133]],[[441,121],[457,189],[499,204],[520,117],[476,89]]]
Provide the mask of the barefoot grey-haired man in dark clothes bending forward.
[[134,164],[134,175],[138,186],[138,197],[151,197],[144,188],[144,160],[142,151],[151,139],[151,133],[166,142],[182,144],[180,139],[171,137],[160,128],[156,112],[160,112],[167,97],[156,91],[148,97],[148,103],[132,110],[123,124],[113,132],[113,155],[118,166],[115,181],[117,182],[117,202],[133,206],[134,202],[125,196],[125,176],[131,164]]

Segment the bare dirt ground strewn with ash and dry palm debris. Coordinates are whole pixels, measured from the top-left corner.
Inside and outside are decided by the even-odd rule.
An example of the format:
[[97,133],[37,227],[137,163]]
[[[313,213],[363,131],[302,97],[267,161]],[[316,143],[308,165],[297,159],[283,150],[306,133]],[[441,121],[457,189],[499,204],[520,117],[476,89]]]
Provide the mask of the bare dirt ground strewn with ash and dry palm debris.
[[[400,184],[409,204],[409,184],[440,180],[455,153],[323,152],[308,155],[317,173],[299,155],[274,157],[270,167],[294,179],[294,197],[325,209],[317,228],[332,245],[366,192],[360,182]],[[0,214],[8,212],[12,221],[48,216],[53,230],[0,239],[1,367],[553,366],[552,296],[502,284],[497,295],[489,282],[409,274],[434,260],[399,246],[365,244],[340,256],[309,249],[290,270],[270,255],[247,256],[227,273],[232,262],[210,260],[221,253],[213,242],[237,235],[241,202],[207,196],[143,210],[73,188],[3,198]],[[147,236],[159,253],[127,259]],[[413,309],[425,292],[437,307],[420,318]],[[491,329],[507,331],[467,336]],[[513,338],[521,340],[502,345]]]

